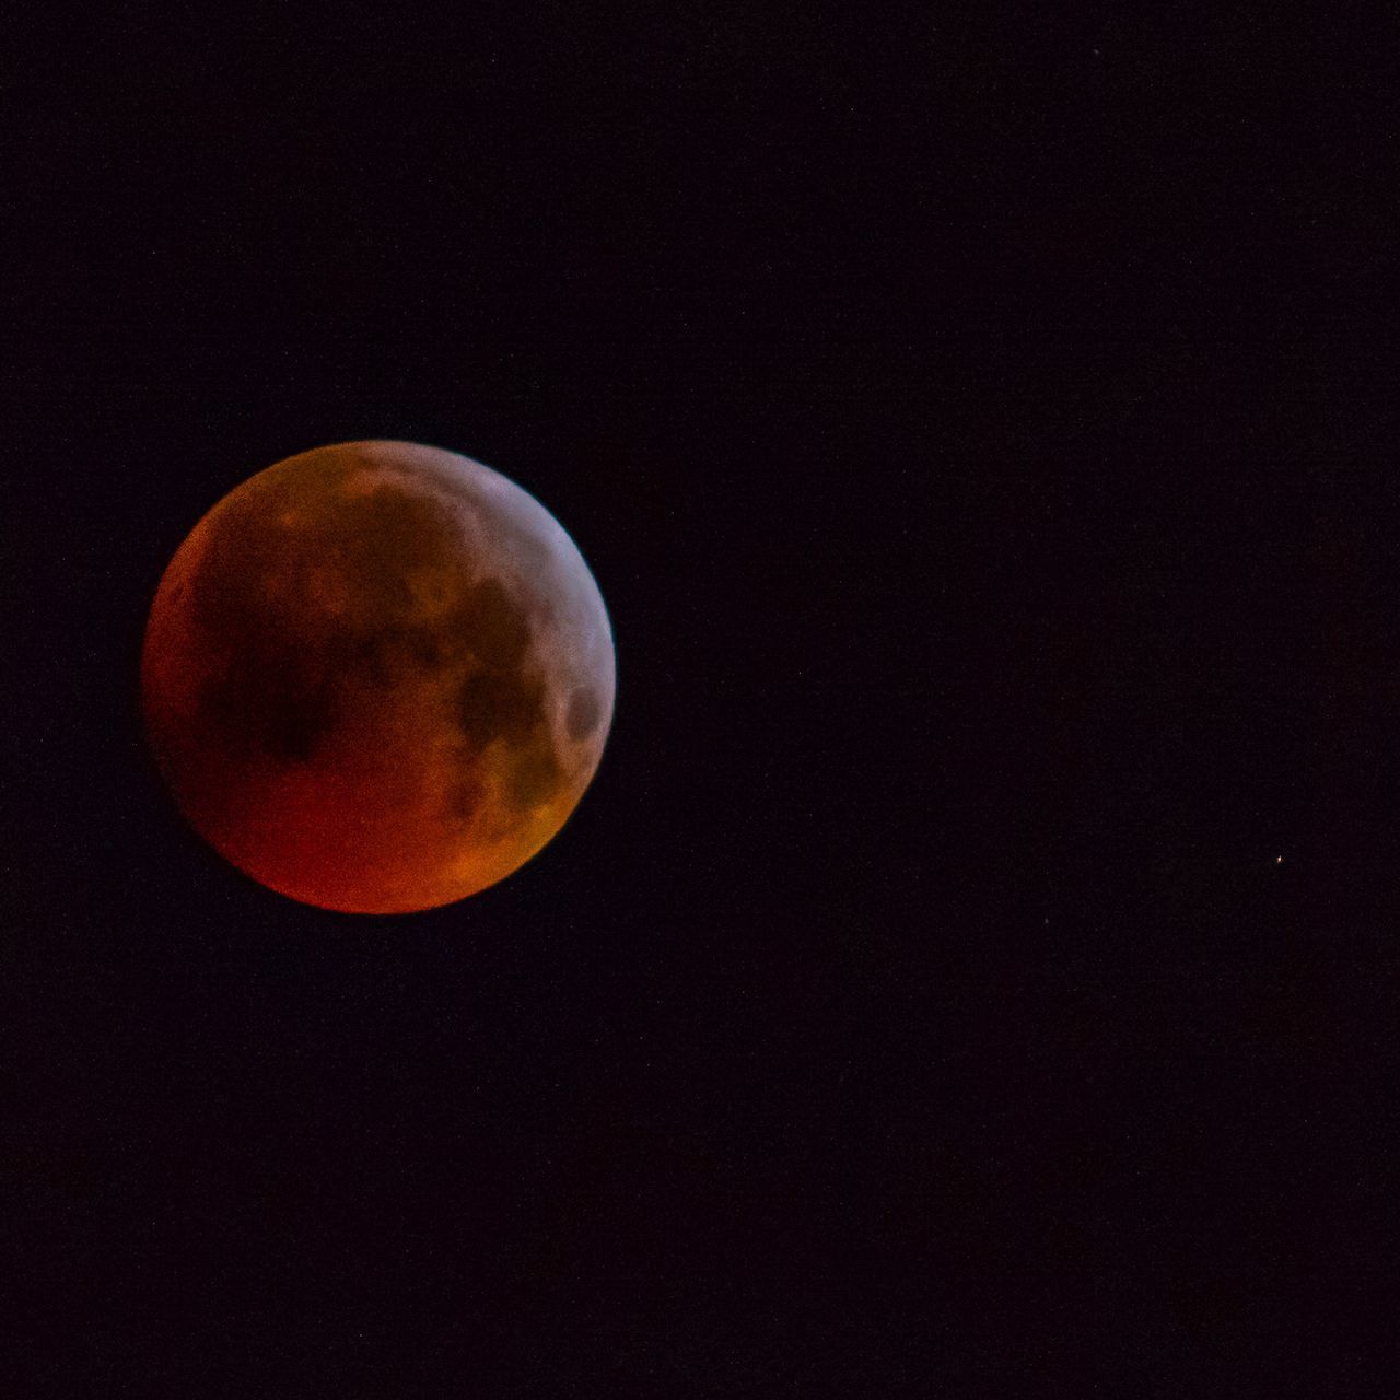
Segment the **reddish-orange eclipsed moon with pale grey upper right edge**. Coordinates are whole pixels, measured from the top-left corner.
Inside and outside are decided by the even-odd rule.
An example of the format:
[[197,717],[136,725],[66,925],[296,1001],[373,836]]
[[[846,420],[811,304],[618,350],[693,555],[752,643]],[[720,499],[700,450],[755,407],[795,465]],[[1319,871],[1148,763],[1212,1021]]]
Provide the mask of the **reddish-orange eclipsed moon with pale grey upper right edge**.
[[559,522],[480,462],[342,442],[230,491],[151,603],[157,764],[238,869],[321,909],[434,909],[560,830],[612,724],[612,630]]

